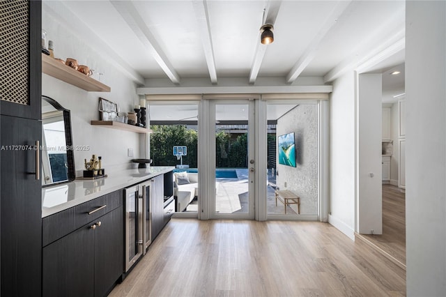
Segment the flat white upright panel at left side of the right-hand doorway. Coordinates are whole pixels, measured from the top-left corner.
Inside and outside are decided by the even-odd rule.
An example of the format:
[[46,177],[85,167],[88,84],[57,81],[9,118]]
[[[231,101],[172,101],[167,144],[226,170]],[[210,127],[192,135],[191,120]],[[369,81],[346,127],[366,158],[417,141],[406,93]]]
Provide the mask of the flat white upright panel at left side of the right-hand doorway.
[[358,75],[357,231],[360,234],[383,234],[382,89],[381,74]]

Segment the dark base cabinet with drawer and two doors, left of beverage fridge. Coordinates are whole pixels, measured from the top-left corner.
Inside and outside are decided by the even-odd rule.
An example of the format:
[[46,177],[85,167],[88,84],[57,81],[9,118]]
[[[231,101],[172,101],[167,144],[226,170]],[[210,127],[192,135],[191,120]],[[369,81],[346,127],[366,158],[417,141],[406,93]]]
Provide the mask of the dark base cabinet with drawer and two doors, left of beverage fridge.
[[[56,240],[43,248],[43,296],[109,293],[124,269],[122,205],[123,191],[119,190],[44,218],[43,237]],[[84,224],[82,216],[91,221]],[[79,227],[79,222],[84,225]],[[51,236],[56,229],[69,230],[69,234]]]

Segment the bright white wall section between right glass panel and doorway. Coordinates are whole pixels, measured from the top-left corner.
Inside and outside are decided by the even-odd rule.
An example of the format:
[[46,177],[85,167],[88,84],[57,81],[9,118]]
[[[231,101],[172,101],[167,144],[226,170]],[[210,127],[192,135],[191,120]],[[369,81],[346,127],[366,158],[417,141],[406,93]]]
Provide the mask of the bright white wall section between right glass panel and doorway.
[[355,73],[333,82],[330,96],[330,215],[328,222],[354,239]]

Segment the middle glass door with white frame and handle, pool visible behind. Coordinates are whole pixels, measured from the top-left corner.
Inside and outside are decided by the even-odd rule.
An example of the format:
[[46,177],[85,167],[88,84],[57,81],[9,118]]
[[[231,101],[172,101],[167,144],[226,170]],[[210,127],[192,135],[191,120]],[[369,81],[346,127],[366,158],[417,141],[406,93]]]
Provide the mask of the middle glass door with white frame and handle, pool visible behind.
[[254,219],[254,100],[211,100],[209,107],[210,218]]

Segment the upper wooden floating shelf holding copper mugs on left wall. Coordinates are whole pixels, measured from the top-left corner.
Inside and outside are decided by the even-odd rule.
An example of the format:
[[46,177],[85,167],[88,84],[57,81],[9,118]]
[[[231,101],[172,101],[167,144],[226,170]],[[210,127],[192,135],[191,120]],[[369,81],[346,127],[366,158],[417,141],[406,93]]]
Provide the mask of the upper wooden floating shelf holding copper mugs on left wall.
[[109,86],[102,84],[102,82],[98,82],[96,79],[84,75],[84,73],[79,73],[79,71],[46,54],[42,54],[42,72],[85,91],[109,92],[111,90]]

